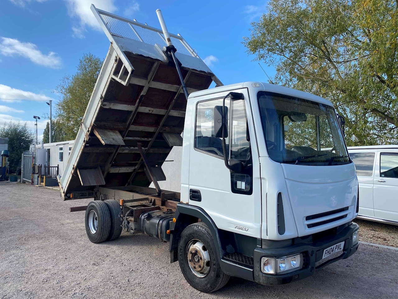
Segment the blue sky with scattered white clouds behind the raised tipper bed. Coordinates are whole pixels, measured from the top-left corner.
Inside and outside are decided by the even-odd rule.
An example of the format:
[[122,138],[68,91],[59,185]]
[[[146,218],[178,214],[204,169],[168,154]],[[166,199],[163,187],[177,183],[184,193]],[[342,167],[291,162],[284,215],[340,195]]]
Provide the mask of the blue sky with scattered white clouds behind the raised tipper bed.
[[[35,131],[33,115],[40,116],[41,140],[47,122],[42,116],[49,113],[45,101],[2,99],[52,99],[54,112],[59,99],[54,89],[76,72],[83,53],[105,57],[109,40],[90,10],[92,3],[156,28],[160,8],[168,30],[180,33],[222,83],[267,81],[241,44],[250,35],[250,22],[265,12],[266,1],[0,0],[0,125],[26,121]],[[269,76],[275,73],[261,65]]]

